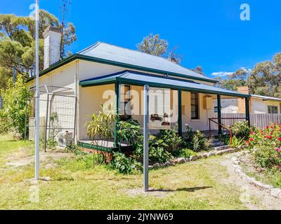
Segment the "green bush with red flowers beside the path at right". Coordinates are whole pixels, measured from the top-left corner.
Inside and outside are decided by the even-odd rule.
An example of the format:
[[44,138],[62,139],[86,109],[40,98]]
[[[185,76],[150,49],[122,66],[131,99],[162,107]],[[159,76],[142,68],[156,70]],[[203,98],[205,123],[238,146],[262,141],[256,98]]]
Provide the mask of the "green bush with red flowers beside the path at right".
[[253,149],[257,165],[281,169],[281,125],[273,124],[251,132],[247,144]]

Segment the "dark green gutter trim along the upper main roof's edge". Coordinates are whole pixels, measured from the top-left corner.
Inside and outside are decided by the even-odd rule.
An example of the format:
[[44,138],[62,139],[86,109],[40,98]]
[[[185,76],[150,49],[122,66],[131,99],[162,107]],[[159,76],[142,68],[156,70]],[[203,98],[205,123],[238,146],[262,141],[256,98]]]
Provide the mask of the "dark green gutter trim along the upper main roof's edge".
[[[45,70],[41,71],[39,73],[39,76],[40,77],[44,76],[47,73],[53,71],[54,69],[58,69],[60,66],[68,64],[68,63],[74,61],[75,59],[81,59],[81,60],[85,60],[85,61],[89,61],[89,62],[98,62],[98,63],[102,63],[102,64],[110,64],[110,65],[114,65],[114,66],[121,66],[121,67],[124,67],[124,68],[127,68],[127,69],[136,69],[136,70],[140,70],[140,71],[161,73],[161,74],[164,74],[164,75],[168,74],[170,76],[176,76],[176,77],[180,77],[180,78],[190,78],[192,80],[202,80],[202,81],[205,81],[205,82],[208,82],[208,83],[218,83],[217,80],[212,80],[212,79],[209,79],[209,78],[189,76],[189,75],[184,75],[184,74],[181,74],[181,73],[174,73],[174,72],[163,71],[163,70],[159,70],[159,69],[150,69],[150,68],[143,67],[143,66],[126,64],[126,63],[122,63],[122,62],[115,62],[115,61],[111,61],[111,60],[107,60],[107,59],[101,59],[101,58],[98,58],[98,57],[91,57],[91,56],[79,55],[79,54],[74,54],[70,57],[67,57],[66,59],[63,59],[60,62],[57,62],[57,63],[51,65],[50,67],[48,67],[48,69],[45,69]],[[33,79],[34,79],[34,77],[28,78],[27,83],[30,82]]]

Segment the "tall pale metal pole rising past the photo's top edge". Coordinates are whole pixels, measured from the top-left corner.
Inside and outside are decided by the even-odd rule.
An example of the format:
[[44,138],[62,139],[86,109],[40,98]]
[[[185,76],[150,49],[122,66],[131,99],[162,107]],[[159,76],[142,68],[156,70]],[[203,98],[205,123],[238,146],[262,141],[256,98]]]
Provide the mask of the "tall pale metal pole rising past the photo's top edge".
[[35,180],[39,179],[39,132],[40,132],[40,114],[39,114],[39,0],[35,1]]

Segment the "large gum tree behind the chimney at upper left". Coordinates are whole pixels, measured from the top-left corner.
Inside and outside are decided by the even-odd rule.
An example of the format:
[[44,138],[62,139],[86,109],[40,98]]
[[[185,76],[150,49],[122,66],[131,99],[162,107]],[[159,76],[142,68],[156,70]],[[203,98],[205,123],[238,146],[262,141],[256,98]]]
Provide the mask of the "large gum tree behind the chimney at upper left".
[[[43,69],[44,57],[44,30],[52,27],[62,28],[58,18],[46,10],[39,11],[39,70]],[[63,55],[65,46],[77,40],[75,27],[68,23],[63,29]],[[30,69],[34,62],[34,20],[29,16],[17,16],[11,14],[0,14],[0,79],[12,76],[15,66],[17,73],[27,78],[24,70]],[[8,72],[7,72],[8,70]],[[6,88],[6,83],[0,81],[0,88]]]

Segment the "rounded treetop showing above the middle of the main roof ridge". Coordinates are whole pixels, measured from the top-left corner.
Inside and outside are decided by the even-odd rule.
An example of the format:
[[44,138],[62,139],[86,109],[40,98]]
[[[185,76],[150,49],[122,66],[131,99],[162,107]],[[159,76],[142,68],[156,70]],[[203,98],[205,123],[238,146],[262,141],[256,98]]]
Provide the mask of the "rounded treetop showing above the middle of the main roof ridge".
[[164,55],[168,48],[168,42],[159,38],[159,34],[149,34],[143,38],[141,43],[137,45],[138,50],[150,55],[161,56]]

